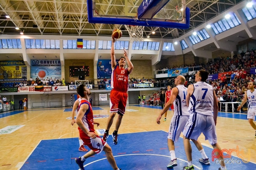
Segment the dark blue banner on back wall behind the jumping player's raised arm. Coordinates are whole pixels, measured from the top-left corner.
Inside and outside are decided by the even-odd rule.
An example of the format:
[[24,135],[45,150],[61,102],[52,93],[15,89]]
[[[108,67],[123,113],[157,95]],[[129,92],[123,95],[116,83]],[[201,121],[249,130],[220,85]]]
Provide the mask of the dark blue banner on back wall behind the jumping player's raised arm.
[[[118,65],[118,60],[116,60]],[[111,60],[98,60],[97,63],[97,78],[111,78],[112,67]]]

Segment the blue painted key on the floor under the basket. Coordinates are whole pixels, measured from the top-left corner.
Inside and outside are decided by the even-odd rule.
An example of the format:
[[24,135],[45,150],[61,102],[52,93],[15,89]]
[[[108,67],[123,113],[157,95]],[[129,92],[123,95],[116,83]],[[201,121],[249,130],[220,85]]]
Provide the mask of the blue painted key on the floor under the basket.
[[[111,136],[107,142],[112,148],[118,167],[123,170],[169,169],[166,165],[170,161],[170,154],[167,146],[167,133],[164,131],[119,134],[118,145],[113,144]],[[25,161],[21,170],[78,170],[74,158],[85,154],[85,152],[78,151],[78,145],[78,138],[43,140]],[[211,165],[204,165],[198,161],[201,154],[195,145],[191,143],[191,146],[195,169],[216,170],[220,167],[219,164],[211,161],[212,148],[203,146],[211,163]],[[183,169],[187,162],[182,138],[175,143],[175,154],[178,166],[174,169]],[[227,164],[227,169],[256,169],[254,163],[243,163],[241,159],[234,156],[232,159],[239,160],[237,162],[241,162],[241,164]],[[85,169],[90,170],[112,169],[107,162],[105,152],[87,158],[84,165],[86,165]]]

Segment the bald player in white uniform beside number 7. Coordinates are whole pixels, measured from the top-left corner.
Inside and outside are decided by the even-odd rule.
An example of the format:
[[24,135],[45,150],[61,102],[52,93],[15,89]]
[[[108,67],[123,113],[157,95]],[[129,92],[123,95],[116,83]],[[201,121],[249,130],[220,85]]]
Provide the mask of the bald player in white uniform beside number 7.
[[[179,139],[179,136],[184,129],[187,120],[189,119],[190,113],[187,111],[187,102],[186,102],[186,94],[187,94],[187,88],[183,85],[185,83],[185,77],[182,75],[179,75],[174,80],[174,84],[176,87],[174,87],[170,94],[170,99],[165,104],[165,107],[159,114],[157,118],[157,123],[160,124],[160,119],[162,115],[171,107],[171,105],[174,105],[174,116],[171,118],[171,124],[168,131],[168,147],[171,155],[171,161],[167,165],[168,168],[173,168],[177,166],[177,159],[175,156],[175,146],[174,142],[177,142]],[[206,156],[203,147],[201,143],[197,140],[193,141],[198,148],[198,150],[201,152],[202,157],[200,162],[203,162],[207,165],[210,164],[208,157]]]

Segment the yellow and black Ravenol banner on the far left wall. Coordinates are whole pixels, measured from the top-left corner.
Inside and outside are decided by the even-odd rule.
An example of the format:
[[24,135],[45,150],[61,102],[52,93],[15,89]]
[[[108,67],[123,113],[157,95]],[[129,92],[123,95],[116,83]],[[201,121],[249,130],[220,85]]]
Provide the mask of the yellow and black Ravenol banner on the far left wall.
[[24,61],[0,61],[0,82],[27,81],[27,66]]

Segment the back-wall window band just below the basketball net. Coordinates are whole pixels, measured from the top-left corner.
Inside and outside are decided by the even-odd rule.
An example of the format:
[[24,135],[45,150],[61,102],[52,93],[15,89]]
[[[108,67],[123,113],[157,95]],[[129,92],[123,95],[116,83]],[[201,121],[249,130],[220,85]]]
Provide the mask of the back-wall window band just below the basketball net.
[[151,41],[134,41],[132,49],[133,50],[159,50],[160,42],[151,42]]

